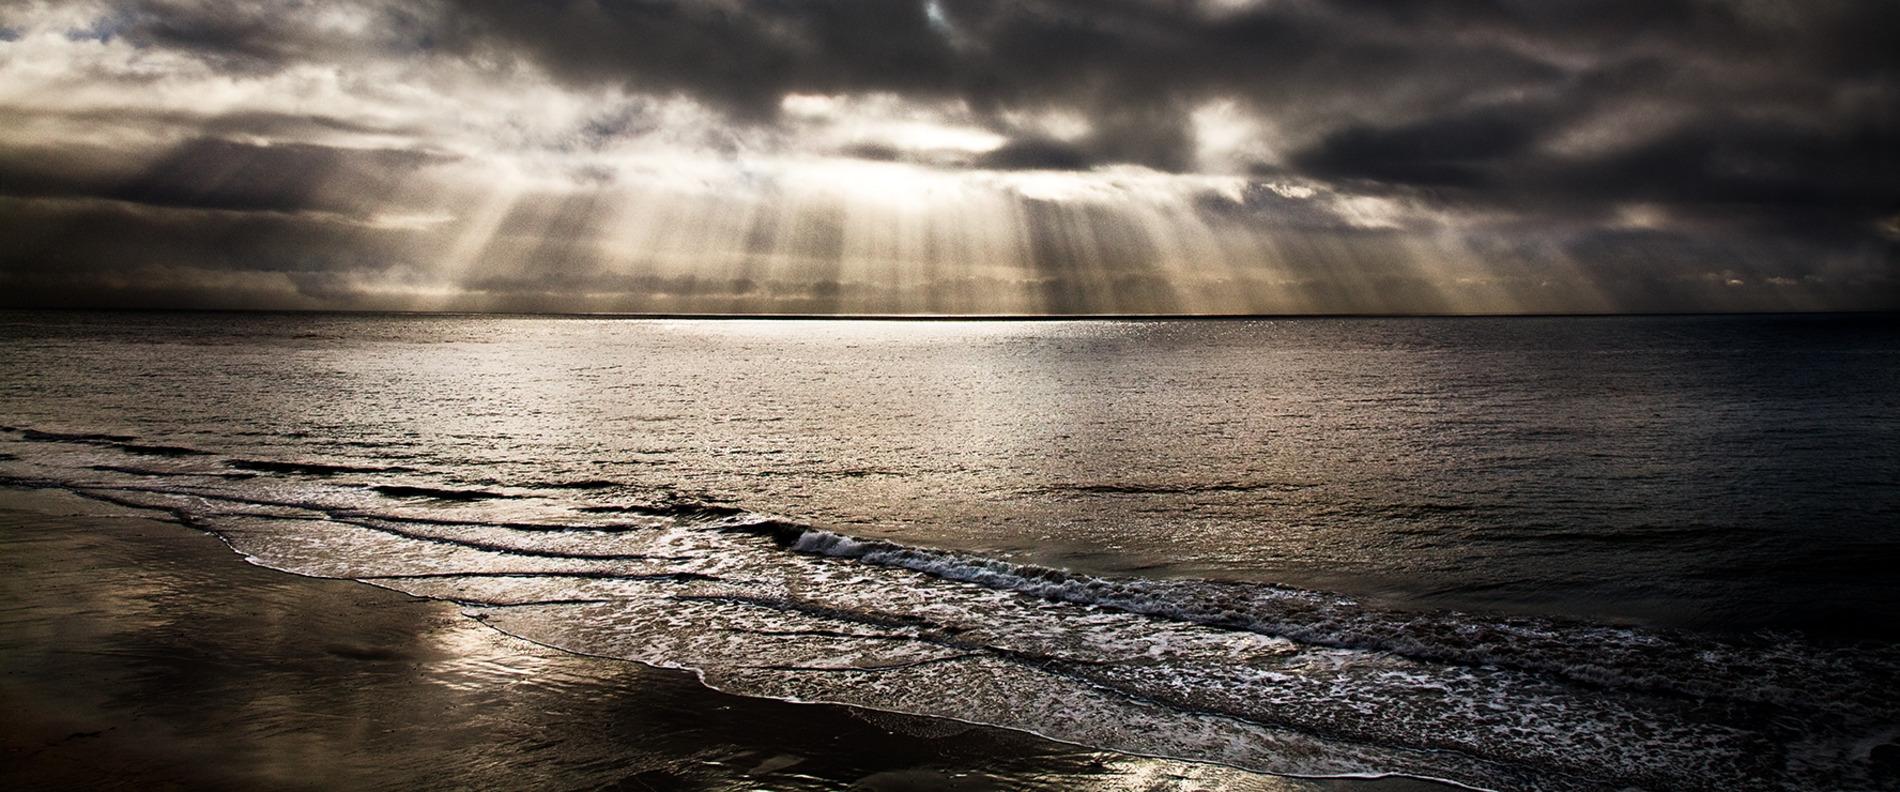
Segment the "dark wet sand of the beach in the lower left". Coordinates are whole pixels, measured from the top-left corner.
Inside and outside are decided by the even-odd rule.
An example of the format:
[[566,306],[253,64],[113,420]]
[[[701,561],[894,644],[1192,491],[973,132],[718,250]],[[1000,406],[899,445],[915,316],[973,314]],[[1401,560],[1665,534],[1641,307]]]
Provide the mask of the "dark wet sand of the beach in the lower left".
[[0,490],[0,602],[8,788],[1442,788],[724,695],[53,492]]

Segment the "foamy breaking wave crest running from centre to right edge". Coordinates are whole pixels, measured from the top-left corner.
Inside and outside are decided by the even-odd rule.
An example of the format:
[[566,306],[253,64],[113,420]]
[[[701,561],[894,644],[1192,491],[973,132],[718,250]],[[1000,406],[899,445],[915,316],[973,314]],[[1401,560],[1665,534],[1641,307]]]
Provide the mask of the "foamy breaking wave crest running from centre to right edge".
[[[1053,602],[1117,610],[1168,621],[1288,638],[1307,646],[1387,651],[1482,669],[1518,669],[1602,688],[1682,693],[1805,708],[1816,699],[1852,701],[1866,712],[1900,710],[1900,691],[1856,689],[1860,676],[1830,680],[1767,646],[1725,646],[1691,636],[1550,619],[1488,619],[1459,612],[1379,612],[1351,598],[1260,583],[1201,579],[1110,579],[998,558],[857,539],[764,520],[760,530],[796,553],[853,558],[933,577],[1013,591]],[[1900,653],[1870,665],[1896,669]],[[1716,667],[1720,672],[1710,672]],[[1845,682],[1845,684],[1843,684]],[[1839,701],[1824,701],[1839,707]]]

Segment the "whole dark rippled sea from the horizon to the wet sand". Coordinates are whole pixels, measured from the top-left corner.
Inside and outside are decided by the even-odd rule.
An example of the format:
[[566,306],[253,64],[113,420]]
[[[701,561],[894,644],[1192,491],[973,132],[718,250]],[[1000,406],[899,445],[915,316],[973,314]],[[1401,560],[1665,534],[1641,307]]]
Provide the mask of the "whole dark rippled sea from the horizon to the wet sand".
[[1887,788],[1889,317],[0,315],[0,475],[720,689],[1292,775]]

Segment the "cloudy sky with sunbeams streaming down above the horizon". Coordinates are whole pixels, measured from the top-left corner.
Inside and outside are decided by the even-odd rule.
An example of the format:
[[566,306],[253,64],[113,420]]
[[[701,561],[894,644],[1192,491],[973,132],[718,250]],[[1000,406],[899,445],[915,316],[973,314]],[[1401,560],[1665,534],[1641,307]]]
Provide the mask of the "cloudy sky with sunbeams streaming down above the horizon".
[[0,304],[1900,310],[1900,4],[0,0]]

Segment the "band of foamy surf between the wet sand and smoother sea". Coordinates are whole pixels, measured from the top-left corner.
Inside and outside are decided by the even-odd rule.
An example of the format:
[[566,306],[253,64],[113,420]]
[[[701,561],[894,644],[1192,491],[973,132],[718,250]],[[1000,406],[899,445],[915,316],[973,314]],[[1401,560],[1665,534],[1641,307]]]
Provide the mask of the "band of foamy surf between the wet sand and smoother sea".
[[1875,760],[1900,750],[1890,646],[1098,577],[618,482],[467,490],[346,462],[228,481],[232,462],[272,460],[198,456],[152,477],[93,435],[63,443],[86,452],[8,448],[23,460],[4,462],[0,484],[156,509],[264,566],[450,600],[540,644],[733,693],[1282,775],[1543,790],[1900,781]]

